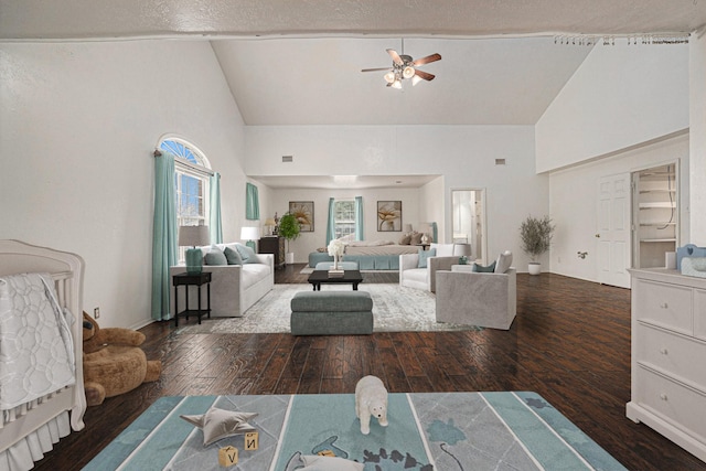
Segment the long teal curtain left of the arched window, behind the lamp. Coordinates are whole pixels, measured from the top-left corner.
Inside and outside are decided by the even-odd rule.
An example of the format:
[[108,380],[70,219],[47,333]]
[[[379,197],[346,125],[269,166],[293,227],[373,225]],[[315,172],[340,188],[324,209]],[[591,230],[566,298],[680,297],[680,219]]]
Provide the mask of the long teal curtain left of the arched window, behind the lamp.
[[154,157],[154,221],[152,224],[152,319],[171,318],[169,267],[178,263],[174,156]]

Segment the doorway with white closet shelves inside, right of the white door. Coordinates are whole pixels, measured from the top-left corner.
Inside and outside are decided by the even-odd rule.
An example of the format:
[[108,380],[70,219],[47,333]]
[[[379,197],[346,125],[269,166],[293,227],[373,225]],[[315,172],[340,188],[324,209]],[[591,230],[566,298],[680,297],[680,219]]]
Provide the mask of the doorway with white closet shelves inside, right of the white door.
[[678,168],[667,163],[632,173],[634,268],[665,266],[678,240]]

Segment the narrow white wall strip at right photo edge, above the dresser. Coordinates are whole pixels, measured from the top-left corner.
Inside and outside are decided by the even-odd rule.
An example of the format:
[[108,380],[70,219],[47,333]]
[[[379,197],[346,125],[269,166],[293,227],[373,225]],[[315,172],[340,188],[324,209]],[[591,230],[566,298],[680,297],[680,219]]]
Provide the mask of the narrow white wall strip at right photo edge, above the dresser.
[[706,246],[706,31],[689,40],[691,222],[689,243]]

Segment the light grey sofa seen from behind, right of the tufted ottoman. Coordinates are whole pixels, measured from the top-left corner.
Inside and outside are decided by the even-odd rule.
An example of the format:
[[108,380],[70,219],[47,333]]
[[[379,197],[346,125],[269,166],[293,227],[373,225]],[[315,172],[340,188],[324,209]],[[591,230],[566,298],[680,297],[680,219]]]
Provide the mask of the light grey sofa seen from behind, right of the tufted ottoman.
[[517,274],[510,264],[506,251],[494,272],[473,272],[472,265],[437,271],[437,322],[510,329],[517,312]]

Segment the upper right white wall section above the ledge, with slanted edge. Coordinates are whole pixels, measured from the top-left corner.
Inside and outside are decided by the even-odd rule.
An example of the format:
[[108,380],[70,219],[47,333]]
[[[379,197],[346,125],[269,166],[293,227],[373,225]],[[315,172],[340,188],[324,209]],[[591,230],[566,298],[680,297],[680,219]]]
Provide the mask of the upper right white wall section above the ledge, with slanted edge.
[[688,128],[688,45],[595,46],[535,126],[537,171]]

